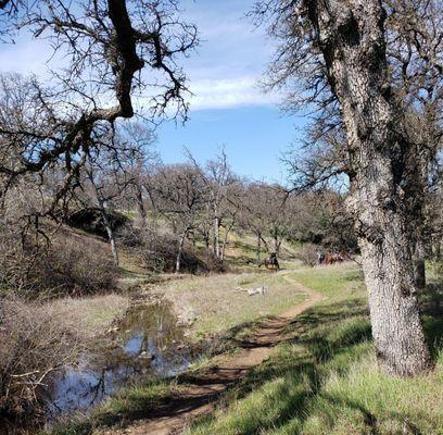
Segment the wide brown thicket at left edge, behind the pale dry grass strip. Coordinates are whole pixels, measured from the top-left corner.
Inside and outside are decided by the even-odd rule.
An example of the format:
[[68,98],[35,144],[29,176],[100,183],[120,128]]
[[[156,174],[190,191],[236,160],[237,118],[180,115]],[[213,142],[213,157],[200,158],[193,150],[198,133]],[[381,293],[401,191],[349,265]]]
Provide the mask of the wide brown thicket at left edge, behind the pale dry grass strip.
[[0,289],[27,294],[86,295],[115,286],[116,270],[103,254],[104,244],[72,232],[59,232],[50,243],[0,234]]

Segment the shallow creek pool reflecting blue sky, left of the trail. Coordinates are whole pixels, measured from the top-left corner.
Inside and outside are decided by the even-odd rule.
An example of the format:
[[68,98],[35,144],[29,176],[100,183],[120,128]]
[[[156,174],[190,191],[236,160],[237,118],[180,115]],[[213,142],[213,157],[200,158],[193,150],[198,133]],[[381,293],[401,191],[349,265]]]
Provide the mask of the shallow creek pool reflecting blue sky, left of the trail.
[[122,387],[186,370],[192,356],[170,304],[131,308],[118,326],[56,373],[47,397],[48,422],[87,413]]

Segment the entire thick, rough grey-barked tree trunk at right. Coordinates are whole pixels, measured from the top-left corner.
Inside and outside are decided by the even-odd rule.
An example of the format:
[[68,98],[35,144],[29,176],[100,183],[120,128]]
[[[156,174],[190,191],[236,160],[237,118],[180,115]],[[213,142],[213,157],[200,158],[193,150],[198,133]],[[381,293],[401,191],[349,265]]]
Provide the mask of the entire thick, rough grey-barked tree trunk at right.
[[331,89],[347,134],[349,206],[369,294],[377,358],[389,374],[430,366],[414,268],[414,222],[422,191],[416,150],[402,132],[389,83],[384,11],[379,0],[308,2]]

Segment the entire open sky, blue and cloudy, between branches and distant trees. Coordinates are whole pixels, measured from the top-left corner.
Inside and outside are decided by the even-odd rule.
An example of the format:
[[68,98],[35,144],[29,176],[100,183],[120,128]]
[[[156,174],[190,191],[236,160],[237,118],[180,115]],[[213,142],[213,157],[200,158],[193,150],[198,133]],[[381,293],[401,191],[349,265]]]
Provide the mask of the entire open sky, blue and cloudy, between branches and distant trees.
[[[199,161],[224,146],[233,170],[255,179],[284,179],[279,157],[301,137],[304,119],[280,112],[281,96],[265,94],[260,80],[274,41],[245,14],[254,0],[182,0],[183,17],[202,40],[182,62],[190,89],[190,120],[159,127],[157,148],[165,163],[185,159],[183,147]],[[45,74],[45,42],[25,37],[15,47],[0,46],[0,71]]]

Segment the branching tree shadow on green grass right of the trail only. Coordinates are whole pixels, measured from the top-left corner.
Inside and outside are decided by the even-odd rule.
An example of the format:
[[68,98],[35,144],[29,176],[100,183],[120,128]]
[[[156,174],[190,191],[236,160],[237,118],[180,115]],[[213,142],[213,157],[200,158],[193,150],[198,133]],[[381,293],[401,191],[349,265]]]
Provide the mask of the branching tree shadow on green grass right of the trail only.
[[[423,306],[427,314],[425,330],[433,356],[436,356],[442,344],[443,319],[441,310],[435,310],[435,298],[440,298],[440,290],[436,291],[436,295],[433,290],[427,295],[427,303],[430,309],[426,309]],[[440,302],[439,307],[441,307]],[[339,363],[344,361],[344,365],[339,368],[340,370],[336,369],[336,373],[339,376],[346,375],[349,366],[355,361],[355,357],[358,358],[370,349],[370,347],[360,347],[362,344],[371,340],[365,301],[355,299],[344,303],[316,307],[292,321],[288,332],[293,333],[293,338],[290,338],[288,343],[300,345],[300,349],[287,357],[277,355],[271,360],[251,370],[241,384],[236,386],[233,396],[231,395],[236,400],[246,398],[251,393],[260,391],[260,388],[271,380],[282,378],[283,382],[278,384],[273,391],[274,397],[278,399],[273,401],[273,403],[277,403],[274,405],[276,406],[273,411],[275,415],[263,415],[263,418],[258,415],[256,421],[251,419],[252,421],[246,424],[248,430],[239,428],[236,433],[240,435],[266,430],[275,431],[292,423],[301,430],[305,421],[312,415],[318,399],[326,403],[325,409],[319,410],[325,415],[328,414],[328,410],[332,410],[332,413],[339,413],[340,409],[343,412],[346,412],[345,409],[347,409],[359,415],[358,420],[366,426],[368,434],[387,433],[382,427],[384,423],[377,419],[376,410],[365,408],[364,405],[351,399],[328,395],[321,389],[320,380],[325,375],[325,370],[327,370],[325,365],[329,361],[334,358],[338,359]],[[228,394],[226,400],[228,403],[229,397]],[[265,408],[263,412],[266,414]],[[333,425],[334,417],[330,415],[331,425]],[[195,426],[204,425],[211,419],[214,417],[197,422]],[[233,419],[236,418],[233,417]],[[410,421],[407,411],[391,410],[388,419],[396,427],[401,427],[402,433],[410,435],[423,433],[415,422]],[[422,421],[426,419],[426,415],[420,417]],[[243,426],[240,425],[239,427]]]

